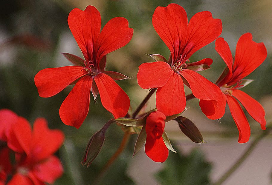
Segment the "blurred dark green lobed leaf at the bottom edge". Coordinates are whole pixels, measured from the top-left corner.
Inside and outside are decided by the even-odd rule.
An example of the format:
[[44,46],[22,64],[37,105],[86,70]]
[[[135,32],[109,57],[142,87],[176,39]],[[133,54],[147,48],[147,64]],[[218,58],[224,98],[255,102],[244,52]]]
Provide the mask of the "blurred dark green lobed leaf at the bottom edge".
[[192,150],[189,155],[169,153],[164,167],[155,174],[161,185],[204,185],[210,184],[211,164],[199,150]]

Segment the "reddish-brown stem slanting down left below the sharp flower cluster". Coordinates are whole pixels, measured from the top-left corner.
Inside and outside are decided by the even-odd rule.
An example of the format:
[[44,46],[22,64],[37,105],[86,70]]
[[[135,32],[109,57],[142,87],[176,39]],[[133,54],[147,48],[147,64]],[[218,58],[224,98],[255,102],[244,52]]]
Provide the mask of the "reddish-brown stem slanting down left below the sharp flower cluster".
[[109,161],[105,164],[105,166],[103,167],[103,169],[101,170],[101,172],[97,176],[96,180],[94,181],[94,184],[99,184],[100,179],[103,177],[103,175],[105,174],[105,172],[109,169],[109,167],[111,166],[111,164],[118,158],[118,156],[123,152],[124,148],[126,147],[126,144],[127,144],[128,140],[129,140],[130,134],[131,133],[130,133],[129,130],[127,130],[124,133],[124,136],[123,136],[123,139],[121,141],[121,144],[120,144],[119,148],[111,156],[111,158],[109,159]]

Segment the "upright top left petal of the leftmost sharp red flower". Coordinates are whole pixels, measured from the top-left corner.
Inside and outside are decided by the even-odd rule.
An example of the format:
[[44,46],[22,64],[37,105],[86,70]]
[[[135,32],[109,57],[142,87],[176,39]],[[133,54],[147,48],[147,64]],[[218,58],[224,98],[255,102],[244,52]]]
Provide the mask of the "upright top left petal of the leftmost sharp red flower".
[[93,6],[87,6],[84,11],[75,8],[69,13],[68,25],[85,60],[94,61],[94,43],[101,28],[101,16],[98,10]]

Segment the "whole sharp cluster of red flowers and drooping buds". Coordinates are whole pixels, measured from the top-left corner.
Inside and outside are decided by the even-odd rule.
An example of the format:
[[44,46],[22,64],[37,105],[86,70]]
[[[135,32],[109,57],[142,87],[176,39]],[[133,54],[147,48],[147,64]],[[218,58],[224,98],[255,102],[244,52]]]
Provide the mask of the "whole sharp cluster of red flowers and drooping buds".
[[[142,115],[138,113],[143,111],[150,96],[148,95],[138,109],[129,115],[129,97],[115,82],[128,77],[105,70],[106,55],[125,46],[132,38],[133,29],[128,27],[128,21],[122,17],[112,18],[100,32],[100,13],[95,7],[88,6],[84,11],[77,8],[72,10],[68,16],[68,24],[84,59],[62,53],[75,65],[43,69],[34,78],[41,97],[51,97],[68,85],[74,85],[59,109],[63,123],[79,128],[88,114],[90,93],[94,100],[99,94],[103,107],[112,113],[113,121],[124,127],[141,129],[138,132],[134,154],[145,143],[146,155],[153,161],[164,162],[168,157],[168,149],[175,152],[164,131],[165,122],[174,119],[192,141],[203,142],[195,125],[180,116],[188,99],[184,91],[185,84],[192,91],[190,98],[199,99],[199,106],[207,118],[221,118],[225,113],[226,103],[229,105],[239,130],[240,143],[249,140],[250,127],[237,100],[261,124],[261,128],[265,129],[263,107],[239,90],[250,82],[243,78],[265,60],[265,45],[252,41],[252,35],[245,33],[237,43],[236,55],[233,58],[227,42],[224,38],[218,38],[222,32],[221,20],[213,18],[209,11],[196,13],[188,23],[184,8],[178,4],[155,9],[152,24],[169,48],[170,56],[167,60],[159,54],[150,55],[155,62],[139,66],[139,86],[151,89],[150,96],[156,91],[156,109]],[[213,83],[198,73],[209,69],[213,60],[204,58],[190,61],[190,57],[215,40],[215,49],[227,67],[218,81]],[[91,138],[82,164],[89,165],[97,156],[110,123],[111,121]],[[137,132],[137,129],[134,130]]]

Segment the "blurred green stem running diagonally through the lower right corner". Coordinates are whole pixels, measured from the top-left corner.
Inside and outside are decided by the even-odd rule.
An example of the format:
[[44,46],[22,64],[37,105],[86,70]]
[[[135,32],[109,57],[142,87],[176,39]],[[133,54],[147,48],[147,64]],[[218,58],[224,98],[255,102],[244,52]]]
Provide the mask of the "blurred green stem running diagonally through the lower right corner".
[[254,141],[250,144],[248,149],[245,151],[245,153],[236,161],[236,163],[221,177],[213,183],[213,185],[220,185],[222,184],[230,175],[233,174],[233,172],[245,161],[245,159],[250,155],[250,153],[253,151],[253,149],[257,146],[257,144],[266,136],[269,134],[269,132],[272,130],[272,124],[270,124],[265,131],[262,132]]

